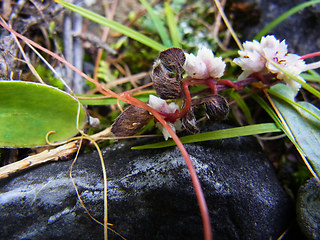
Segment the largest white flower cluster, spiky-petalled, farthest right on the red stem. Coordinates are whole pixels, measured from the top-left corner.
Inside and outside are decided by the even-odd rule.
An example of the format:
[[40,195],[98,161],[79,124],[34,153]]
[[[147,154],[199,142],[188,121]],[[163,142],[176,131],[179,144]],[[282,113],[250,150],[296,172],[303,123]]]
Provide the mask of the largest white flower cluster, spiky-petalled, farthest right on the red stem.
[[[299,55],[288,53],[285,40],[280,42],[273,35],[262,37],[261,42],[256,40],[243,43],[243,50],[239,51],[239,58],[233,61],[238,64],[243,73],[239,80],[245,79],[252,73],[274,73],[278,79],[284,80],[290,87],[299,90],[301,85],[292,80],[276,66],[279,65],[285,72],[296,77],[306,70],[306,64]],[[303,80],[301,77],[299,77]]]

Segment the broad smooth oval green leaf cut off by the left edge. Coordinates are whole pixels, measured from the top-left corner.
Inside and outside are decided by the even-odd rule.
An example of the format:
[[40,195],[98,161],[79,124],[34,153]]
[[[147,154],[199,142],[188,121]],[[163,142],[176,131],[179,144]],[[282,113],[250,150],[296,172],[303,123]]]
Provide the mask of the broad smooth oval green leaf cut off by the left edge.
[[86,114],[71,95],[51,86],[0,81],[0,147],[34,147],[63,141],[78,133]]

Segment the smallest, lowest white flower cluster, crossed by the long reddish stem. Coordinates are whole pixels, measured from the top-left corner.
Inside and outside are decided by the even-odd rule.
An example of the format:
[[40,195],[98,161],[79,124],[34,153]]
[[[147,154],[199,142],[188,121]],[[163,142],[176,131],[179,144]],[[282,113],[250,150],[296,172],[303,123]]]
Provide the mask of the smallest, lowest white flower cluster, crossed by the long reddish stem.
[[[149,96],[148,105],[152,107],[153,109],[157,110],[160,113],[175,113],[177,110],[179,110],[179,106],[175,103],[167,103],[166,100],[158,98],[154,95]],[[181,121],[178,119],[172,123],[168,123],[170,127],[173,129],[173,131],[176,131],[176,129],[181,129]],[[158,127],[163,134],[163,137],[165,140],[168,140],[168,138],[171,138],[171,135],[168,133],[167,129],[163,127],[163,125],[159,122],[156,123],[156,127]]]

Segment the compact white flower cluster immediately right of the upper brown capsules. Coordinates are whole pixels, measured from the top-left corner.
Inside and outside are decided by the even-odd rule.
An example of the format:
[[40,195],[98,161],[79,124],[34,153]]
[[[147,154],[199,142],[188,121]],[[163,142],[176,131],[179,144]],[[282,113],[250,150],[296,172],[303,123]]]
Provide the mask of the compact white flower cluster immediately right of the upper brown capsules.
[[209,77],[220,78],[224,74],[226,63],[221,57],[214,57],[212,50],[202,47],[198,50],[197,56],[188,53],[184,69],[186,73],[196,79]]

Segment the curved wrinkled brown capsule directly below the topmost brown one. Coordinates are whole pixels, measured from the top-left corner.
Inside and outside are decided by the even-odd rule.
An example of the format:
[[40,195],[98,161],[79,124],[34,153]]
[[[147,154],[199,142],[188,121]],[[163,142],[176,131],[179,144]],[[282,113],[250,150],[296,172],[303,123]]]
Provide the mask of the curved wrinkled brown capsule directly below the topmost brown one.
[[153,66],[152,81],[154,89],[160,98],[176,99],[181,96],[181,82],[169,78],[169,73],[160,60],[156,61]]

